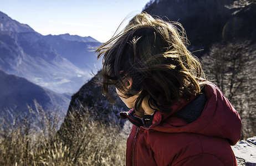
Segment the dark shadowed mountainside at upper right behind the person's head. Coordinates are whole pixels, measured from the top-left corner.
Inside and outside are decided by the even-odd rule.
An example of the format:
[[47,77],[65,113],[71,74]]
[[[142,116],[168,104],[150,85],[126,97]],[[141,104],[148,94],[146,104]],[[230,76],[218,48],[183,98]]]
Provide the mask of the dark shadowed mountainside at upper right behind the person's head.
[[[144,11],[165,20],[180,22],[197,56],[220,40],[250,39],[256,42],[256,4],[233,6],[234,0],[157,0]],[[239,1],[242,2],[242,1]],[[243,1],[246,2],[246,1]],[[238,1],[237,1],[238,3]]]

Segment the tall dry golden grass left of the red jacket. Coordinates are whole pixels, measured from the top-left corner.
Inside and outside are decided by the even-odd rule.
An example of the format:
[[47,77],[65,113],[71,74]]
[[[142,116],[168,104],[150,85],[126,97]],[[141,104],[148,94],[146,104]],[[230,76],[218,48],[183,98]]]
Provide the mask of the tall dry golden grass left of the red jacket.
[[126,134],[90,111],[74,111],[57,133],[58,109],[6,110],[0,117],[0,165],[125,165]]

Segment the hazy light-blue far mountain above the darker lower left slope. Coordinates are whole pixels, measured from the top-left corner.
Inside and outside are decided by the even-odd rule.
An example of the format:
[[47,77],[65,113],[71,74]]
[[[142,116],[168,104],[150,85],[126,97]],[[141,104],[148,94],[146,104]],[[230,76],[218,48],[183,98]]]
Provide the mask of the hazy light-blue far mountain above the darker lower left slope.
[[[45,37],[0,12],[0,70],[59,93],[74,93],[97,72],[91,37]],[[96,65],[99,66],[99,65]]]

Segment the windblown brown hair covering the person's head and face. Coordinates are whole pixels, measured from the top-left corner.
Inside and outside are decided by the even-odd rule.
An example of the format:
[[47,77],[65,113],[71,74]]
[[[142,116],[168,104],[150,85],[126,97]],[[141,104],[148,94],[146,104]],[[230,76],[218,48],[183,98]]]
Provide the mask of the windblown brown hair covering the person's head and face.
[[[187,45],[181,24],[137,14],[121,33],[96,49],[98,58],[103,56],[103,94],[110,97],[108,86],[114,85],[122,97],[139,95],[135,101],[139,114],[144,99],[153,110],[170,112],[173,103],[201,91],[201,64]],[[132,79],[130,89],[127,78]]]

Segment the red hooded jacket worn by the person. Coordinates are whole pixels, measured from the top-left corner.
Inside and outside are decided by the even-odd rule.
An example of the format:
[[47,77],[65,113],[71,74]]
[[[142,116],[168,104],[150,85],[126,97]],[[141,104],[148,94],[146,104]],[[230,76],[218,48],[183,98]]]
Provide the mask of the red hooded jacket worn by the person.
[[134,123],[127,139],[126,165],[237,165],[231,145],[240,139],[238,112],[215,85],[205,85],[204,94],[201,115],[191,123],[175,113],[193,99],[172,106],[170,113],[156,111],[147,125],[134,117],[133,109],[121,112],[122,118]]

